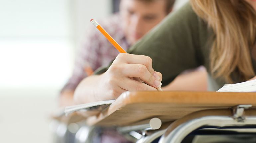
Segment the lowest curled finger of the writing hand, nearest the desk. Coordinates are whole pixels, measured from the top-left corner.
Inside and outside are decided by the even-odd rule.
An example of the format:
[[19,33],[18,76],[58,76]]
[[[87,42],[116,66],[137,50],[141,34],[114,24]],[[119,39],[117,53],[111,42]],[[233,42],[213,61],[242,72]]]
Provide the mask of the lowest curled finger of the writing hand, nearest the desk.
[[128,90],[128,91],[145,91],[145,90],[157,91],[157,89],[152,86],[149,86],[145,83],[135,81],[130,78],[123,78],[122,81],[123,82],[121,82],[119,84],[119,86],[124,90]]

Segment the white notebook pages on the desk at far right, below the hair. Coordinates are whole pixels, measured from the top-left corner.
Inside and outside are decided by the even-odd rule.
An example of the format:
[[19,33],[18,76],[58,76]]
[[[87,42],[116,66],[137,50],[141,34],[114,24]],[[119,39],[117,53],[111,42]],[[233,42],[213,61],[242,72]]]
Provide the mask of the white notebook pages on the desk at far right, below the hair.
[[256,92],[256,79],[236,84],[225,84],[217,92]]

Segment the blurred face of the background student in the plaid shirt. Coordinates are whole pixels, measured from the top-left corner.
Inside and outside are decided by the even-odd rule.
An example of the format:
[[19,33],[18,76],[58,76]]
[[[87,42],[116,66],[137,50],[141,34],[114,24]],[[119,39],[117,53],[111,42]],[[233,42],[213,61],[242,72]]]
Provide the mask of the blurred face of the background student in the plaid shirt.
[[165,0],[121,0],[120,14],[130,44],[138,41],[167,15],[165,3]]

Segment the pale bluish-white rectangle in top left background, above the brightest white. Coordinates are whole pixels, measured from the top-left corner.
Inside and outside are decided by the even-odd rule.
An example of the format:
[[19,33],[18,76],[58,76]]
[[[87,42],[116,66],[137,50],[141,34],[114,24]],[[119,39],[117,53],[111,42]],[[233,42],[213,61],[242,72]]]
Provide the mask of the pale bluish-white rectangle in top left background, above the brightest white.
[[69,37],[69,0],[1,0],[0,37]]

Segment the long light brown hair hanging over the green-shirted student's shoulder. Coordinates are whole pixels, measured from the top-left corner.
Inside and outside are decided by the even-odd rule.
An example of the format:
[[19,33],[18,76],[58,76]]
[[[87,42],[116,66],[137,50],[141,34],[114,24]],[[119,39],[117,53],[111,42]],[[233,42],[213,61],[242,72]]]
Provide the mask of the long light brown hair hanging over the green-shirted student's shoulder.
[[213,77],[245,81],[253,76],[250,50],[256,39],[256,11],[245,0],[190,0],[195,13],[215,33],[210,53]]

